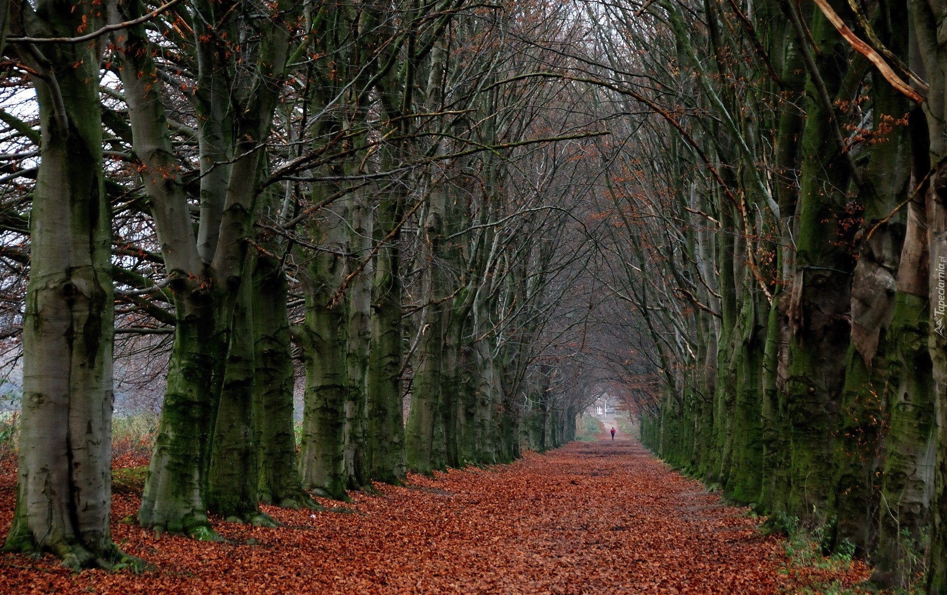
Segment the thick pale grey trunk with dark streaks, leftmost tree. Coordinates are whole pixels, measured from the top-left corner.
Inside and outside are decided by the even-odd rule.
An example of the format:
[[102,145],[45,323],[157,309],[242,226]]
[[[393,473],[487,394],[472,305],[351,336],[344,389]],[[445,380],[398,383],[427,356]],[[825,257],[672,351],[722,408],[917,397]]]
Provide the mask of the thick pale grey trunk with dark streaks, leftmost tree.
[[[35,12],[34,12],[35,8]],[[28,35],[98,27],[97,6],[41,1]],[[6,15],[5,15],[6,16]],[[6,24],[5,24],[6,25]],[[111,205],[102,170],[97,44],[20,46],[34,79],[43,157],[30,216],[16,509],[6,551],[109,567],[113,289]]]

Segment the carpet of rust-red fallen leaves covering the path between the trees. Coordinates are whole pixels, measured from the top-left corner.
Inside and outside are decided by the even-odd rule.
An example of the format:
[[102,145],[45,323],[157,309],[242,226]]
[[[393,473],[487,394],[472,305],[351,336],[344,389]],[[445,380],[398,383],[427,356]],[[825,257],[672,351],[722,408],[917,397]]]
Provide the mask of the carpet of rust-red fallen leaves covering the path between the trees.
[[[624,432],[409,480],[379,485],[382,496],[352,494],[348,514],[263,507],[286,525],[278,529],[215,521],[222,543],[118,522],[139,504],[134,486],[121,489],[113,536],[152,569],[74,574],[50,556],[2,554],[0,592],[816,593],[868,575],[857,562],[795,565],[782,540],[759,534],[758,518],[722,505]],[[0,475],[0,534],[14,484],[9,469]]]

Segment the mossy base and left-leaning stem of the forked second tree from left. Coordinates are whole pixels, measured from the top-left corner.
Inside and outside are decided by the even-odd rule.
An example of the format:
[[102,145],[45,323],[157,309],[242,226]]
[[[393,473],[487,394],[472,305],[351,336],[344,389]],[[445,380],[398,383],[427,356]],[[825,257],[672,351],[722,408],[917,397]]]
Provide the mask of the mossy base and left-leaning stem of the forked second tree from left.
[[[109,8],[116,22],[143,11],[137,2]],[[176,321],[162,419],[138,520],[158,531],[209,536],[204,482],[226,338],[216,326],[215,296],[209,284],[201,283],[207,271],[191,229],[188,194],[176,173],[150,41],[144,26],[125,29],[117,39],[133,147],[145,166],[144,186],[173,279]]]

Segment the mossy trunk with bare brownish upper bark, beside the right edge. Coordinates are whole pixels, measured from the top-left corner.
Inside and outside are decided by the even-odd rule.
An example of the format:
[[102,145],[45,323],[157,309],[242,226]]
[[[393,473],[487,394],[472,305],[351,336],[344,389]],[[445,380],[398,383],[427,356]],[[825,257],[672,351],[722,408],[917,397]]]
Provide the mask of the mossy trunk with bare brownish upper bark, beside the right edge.
[[[914,147],[911,188],[930,169],[927,126],[920,109],[910,114]],[[888,354],[885,407],[887,440],[878,547],[871,557],[872,579],[883,586],[907,586],[914,580],[911,555],[923,551],[924,532],[931,523],[934,501],[933,470],[937,460],[934,385],[928,351],[930,275],[926,187],[907,204],[906,231],[898,268],[894,313],[887,331]]]

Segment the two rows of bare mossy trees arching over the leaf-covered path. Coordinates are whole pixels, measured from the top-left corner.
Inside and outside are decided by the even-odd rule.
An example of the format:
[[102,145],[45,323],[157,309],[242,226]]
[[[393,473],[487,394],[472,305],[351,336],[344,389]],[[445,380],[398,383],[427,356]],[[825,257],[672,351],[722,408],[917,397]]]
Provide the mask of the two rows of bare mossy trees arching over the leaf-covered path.
[[[941,0],[0,0],[7,551],[572,440],[947,593]],[[300,405],[296,405],[296,401]],[[135,405],[135,404],[138,405]]]

